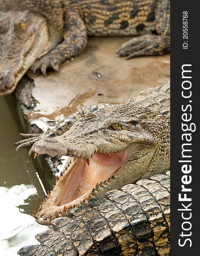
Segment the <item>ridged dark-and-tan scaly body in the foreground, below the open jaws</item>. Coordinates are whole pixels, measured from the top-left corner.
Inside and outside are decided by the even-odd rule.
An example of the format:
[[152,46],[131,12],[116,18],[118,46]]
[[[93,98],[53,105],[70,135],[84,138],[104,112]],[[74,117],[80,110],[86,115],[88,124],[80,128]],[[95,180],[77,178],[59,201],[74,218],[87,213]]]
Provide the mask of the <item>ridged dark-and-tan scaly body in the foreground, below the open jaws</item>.
[[170,255],[170,175],[155,175],[105,198],[93,198],[90,207],[73,209],[72,218],[52,221],[56,231],[35,236],[40,245],[21,248],[21,256],[168,256]]

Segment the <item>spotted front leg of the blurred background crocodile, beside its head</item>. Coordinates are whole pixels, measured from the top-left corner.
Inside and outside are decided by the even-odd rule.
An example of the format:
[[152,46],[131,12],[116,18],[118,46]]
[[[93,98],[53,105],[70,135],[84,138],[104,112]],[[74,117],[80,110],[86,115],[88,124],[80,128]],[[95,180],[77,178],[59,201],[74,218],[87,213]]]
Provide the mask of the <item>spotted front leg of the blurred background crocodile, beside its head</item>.
[[49,53],[35,61],[32,70],[41,69],[46,75],[47,68],[53,68],[58,71],[61,63],[78,56],[87,44],[87,30],[78,10],[74,8],[67,9],[64,14],[64,41],[58,44]]

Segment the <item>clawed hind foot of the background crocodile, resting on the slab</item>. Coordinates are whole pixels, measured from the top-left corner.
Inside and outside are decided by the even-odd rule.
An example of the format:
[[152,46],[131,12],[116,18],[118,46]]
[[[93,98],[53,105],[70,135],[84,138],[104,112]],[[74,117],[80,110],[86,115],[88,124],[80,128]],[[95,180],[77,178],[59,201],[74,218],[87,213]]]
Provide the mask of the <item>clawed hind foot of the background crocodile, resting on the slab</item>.
[[127,59],[145,55],[161,55],[169,52],[169,45],[168,37],[154,34],[142,35],[122,44],[116,53],[119,57],[126,56]]

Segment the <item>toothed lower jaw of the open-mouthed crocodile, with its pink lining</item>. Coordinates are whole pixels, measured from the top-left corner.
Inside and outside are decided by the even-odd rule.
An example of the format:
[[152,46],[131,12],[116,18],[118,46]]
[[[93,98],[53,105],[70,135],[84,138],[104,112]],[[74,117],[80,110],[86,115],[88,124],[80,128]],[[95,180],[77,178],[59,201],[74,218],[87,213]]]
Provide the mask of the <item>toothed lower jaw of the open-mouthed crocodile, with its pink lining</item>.
[[50,225],[54,218],[66,216],[72,207],[89,205],[88,201],[113,189],[113,174],[126,162],[127,148],[118,153],[93,154],[90,159],[70,157],[67,167],[34,215],[39,224]]

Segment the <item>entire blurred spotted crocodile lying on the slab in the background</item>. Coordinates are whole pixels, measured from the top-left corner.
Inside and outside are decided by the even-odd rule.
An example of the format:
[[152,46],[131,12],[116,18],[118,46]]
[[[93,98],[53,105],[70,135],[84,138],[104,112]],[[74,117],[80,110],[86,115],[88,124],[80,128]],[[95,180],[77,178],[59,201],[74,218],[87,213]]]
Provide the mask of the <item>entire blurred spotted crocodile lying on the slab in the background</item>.
[[139,35],[127,58],[170,50],[169,0],[0,0],[0,94],[12,93],[32,66],[46,74],[79,55],[87,35]]

